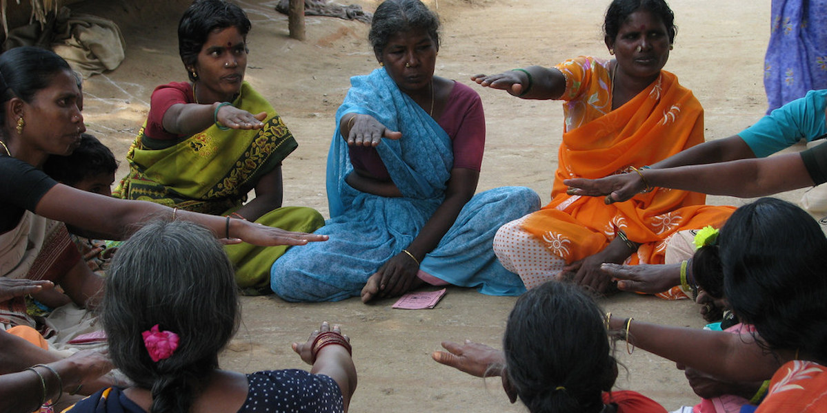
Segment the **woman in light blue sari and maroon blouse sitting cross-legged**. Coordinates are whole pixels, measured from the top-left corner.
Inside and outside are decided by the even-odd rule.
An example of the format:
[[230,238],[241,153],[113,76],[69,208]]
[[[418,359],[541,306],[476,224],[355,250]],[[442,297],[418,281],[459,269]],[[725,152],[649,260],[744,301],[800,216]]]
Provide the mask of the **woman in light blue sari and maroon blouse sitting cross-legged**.
[[519,295],[500,265],[500,225],[536,211],[528,188],[475,195],[485,144],[480,97],[433,75],[436,15],[418,0],[388,0],[370,28],[380,69],[351,78],[327,157],[331,219],[324,248],[290,249],[270,287],[287,301],[394,297],[429,283]]

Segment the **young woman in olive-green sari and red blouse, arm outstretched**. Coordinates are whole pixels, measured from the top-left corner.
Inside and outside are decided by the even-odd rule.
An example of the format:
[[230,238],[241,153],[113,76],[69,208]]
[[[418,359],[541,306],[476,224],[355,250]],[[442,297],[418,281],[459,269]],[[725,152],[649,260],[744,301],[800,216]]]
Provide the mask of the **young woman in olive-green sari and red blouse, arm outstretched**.
[[[113,192],[213,215],[313,232],[318,211],[281,207],[281,161],[298,144],[270,103],[244,82],[251,23],[225,0],[196,0],[178,26],[190,82],[155,88],[146,123],[127,154],[129,174]],[[256,197],[246,202],[247,192]],[[245,203],[246,202],[246,203]],[[269,292],[270,267],[286,246],[227,245],[236,281]]]

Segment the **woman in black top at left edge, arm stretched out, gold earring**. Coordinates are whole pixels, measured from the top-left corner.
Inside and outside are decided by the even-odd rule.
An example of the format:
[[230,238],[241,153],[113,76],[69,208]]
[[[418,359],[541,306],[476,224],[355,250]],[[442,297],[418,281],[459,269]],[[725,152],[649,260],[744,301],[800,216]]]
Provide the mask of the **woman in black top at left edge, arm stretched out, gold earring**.
[[[306,244],[323,235],[295,233],[221,216],[176,211],[152,202],[103,197],[56,183],[41,171],[51,154],[70,154],[86,128],[69,64],[55,53],[20,47],[0,55],[0,277],[46,279],[78,306],[103,282],[69,240],[64,222],[120,240],[151,217],[196,221],[228,242]],[[0,301],[0,327],[36,326],[22,297]],[[41,363],[51,360],[44,359]]]

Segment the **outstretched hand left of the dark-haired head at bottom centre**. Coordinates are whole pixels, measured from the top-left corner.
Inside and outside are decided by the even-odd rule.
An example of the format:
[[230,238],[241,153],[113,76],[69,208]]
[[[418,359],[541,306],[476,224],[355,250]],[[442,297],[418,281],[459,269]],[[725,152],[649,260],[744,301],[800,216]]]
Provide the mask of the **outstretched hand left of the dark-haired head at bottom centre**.
[[466,339],[464,344],[443,341],[442,348],[434,351],[431,358],[437,363],[456,368],[476,377],[500,376],[505,365],[505,354],[485,344]]

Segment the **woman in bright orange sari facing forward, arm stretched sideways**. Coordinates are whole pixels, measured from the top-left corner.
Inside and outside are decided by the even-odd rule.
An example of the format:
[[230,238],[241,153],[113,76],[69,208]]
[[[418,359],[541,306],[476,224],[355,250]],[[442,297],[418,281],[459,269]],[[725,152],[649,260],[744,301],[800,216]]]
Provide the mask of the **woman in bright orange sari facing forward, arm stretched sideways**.
[[[600,198],[569,196],[562,183],[639,171],[703,142],[700,102],[662,70],[675,39],[673,21],[663,0],[614,0],[604,30],[615,59],[581,56],[552,69],[473,77],[516,97],[565,101],[552,202],[503,225],[494,240],[500,262],[527,288],[554,278],[606,292],[612,284],[600,264],[664,263],[673,234],[719,226],[733,211],[705,206],[700,193],[662,188],[626,205],[605,205]],[[678,288],[661,295],[683,297]]]

